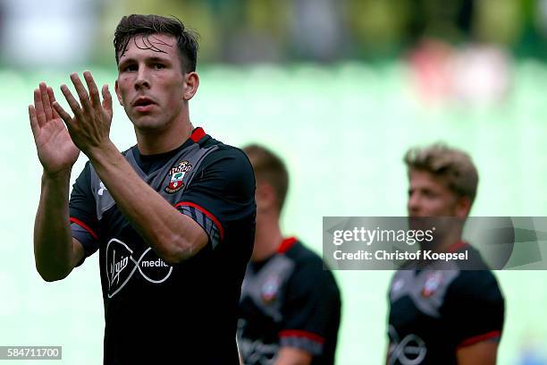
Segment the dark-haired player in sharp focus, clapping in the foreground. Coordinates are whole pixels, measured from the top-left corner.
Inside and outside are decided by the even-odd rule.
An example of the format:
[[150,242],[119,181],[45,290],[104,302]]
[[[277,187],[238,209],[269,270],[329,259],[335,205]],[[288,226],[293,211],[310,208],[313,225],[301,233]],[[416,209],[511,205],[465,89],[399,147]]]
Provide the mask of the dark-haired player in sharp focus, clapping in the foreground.
[[[115,91],[137,145],[109,139],[112,98],[71,75],[78,99],[45,83],[29,106],[44,167],[35,224],[36,267],[68,276],[99,251],[105,364],[237,364],[237,309],[255,231],[248,158],[189,120],[198,43],[181,21],[123,17],[114,35]],[[63,121],[62,121],[63,120]],[[63,122],[68,127],[64,127]],[[80,150],[89,162],[73,186]]]

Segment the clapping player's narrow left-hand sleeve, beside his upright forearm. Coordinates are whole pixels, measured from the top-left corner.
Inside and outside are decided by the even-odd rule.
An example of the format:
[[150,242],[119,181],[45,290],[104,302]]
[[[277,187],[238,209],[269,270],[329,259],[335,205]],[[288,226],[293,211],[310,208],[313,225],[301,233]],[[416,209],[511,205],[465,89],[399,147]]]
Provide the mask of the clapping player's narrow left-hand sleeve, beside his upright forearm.
[[[85,257],[98,250],[98,220],[95,197],[91,191],[90,166],[86,164],[76,182],[72,185],[69,201],[72,237],[81,242]],[[78,264],[81,265],[83,260]]]

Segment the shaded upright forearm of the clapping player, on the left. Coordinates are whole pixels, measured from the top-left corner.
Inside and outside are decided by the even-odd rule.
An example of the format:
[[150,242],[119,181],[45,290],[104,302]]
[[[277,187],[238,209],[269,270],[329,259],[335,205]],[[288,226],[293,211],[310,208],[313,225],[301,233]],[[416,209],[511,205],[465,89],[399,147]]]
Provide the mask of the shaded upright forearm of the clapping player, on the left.
[[71,171],[42,176],[42,190],[34,224],[34,258],[46,281],[67,276],[72,270],[72,234],[69,221]]

